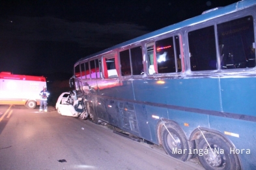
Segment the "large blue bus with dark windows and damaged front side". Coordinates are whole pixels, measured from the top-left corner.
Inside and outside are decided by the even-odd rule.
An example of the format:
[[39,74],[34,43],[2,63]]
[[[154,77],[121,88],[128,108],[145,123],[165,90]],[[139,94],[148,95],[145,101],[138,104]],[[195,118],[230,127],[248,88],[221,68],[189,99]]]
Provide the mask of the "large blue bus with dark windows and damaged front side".
[[205,169],[256,169],[256,1],[214,8],[74,64],[95,123]]

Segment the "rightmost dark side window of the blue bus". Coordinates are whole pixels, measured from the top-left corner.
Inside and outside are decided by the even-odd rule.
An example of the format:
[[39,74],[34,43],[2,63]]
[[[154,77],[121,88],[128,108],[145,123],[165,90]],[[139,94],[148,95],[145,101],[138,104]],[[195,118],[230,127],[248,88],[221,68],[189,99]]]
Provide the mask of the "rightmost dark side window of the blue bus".
[[217,25],[221,69],[255,67],[253,17]]

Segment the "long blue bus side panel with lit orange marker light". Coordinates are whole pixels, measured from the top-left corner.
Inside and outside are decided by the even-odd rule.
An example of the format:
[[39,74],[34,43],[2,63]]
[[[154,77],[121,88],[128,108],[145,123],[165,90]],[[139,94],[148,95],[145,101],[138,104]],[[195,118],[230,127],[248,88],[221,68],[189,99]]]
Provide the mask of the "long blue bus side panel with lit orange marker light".
[[221,110],[218,79],[134,80],[136,101]]

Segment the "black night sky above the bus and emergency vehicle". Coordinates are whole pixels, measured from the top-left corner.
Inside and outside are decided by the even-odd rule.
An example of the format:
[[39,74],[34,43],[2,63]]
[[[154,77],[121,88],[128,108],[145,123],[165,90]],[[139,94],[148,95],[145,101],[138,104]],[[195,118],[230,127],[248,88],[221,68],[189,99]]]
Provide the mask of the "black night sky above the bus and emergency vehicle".
[[0,72],[72,75],[74,63],[231,0],[0,1]]

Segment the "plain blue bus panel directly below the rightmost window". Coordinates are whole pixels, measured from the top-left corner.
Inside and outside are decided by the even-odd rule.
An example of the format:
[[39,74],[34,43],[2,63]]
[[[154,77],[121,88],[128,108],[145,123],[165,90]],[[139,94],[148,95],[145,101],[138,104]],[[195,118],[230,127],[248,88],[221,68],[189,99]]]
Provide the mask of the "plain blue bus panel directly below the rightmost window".
[[256,116],[256,78],[221,79],[223,111]]

